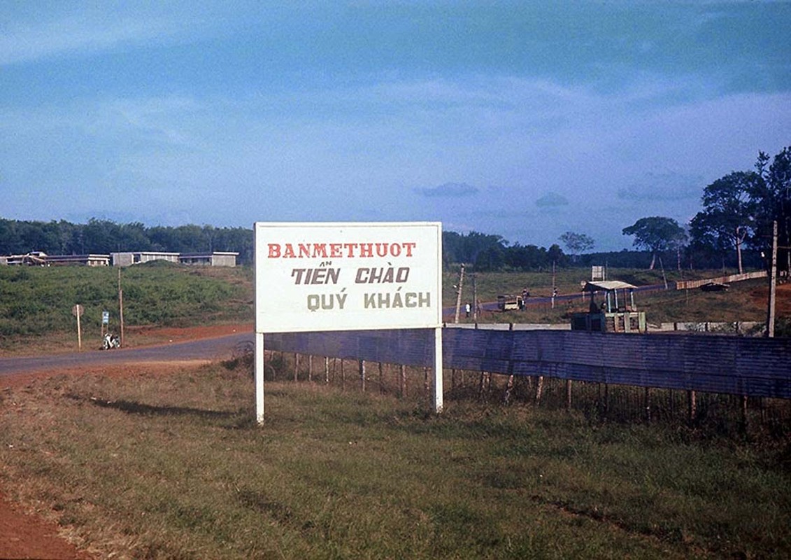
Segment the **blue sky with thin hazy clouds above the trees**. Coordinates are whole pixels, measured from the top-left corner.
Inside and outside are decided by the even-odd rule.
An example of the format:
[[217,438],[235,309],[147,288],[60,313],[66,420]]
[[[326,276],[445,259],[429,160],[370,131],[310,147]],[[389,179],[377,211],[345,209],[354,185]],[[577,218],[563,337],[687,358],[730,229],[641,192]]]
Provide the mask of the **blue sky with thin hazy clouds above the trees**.
[[620,250],[791,145],[789,29],[789,2],[6,0],[0,217]]

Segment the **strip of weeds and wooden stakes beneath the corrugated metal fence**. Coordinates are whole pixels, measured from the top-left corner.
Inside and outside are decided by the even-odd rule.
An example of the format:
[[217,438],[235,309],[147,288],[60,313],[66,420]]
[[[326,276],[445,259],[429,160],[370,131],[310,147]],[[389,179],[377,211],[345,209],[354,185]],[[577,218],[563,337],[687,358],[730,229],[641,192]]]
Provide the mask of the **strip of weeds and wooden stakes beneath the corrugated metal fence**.
[[[252,371],[252,353],[232,365],[239,363]],[[266,363],[267,381],[324,384],[336,390],[378,392],[426,403],[432,398],[432,375],[426,367],[279,351],[268,351]],[[592,422],[657,424],[690,428],[702,434],[769,440],[791,436],[788,399],[461,369],[445,371],[444,389],[446,405],[451,406],[452,402],[532,406],[558,413],[579,413]]]

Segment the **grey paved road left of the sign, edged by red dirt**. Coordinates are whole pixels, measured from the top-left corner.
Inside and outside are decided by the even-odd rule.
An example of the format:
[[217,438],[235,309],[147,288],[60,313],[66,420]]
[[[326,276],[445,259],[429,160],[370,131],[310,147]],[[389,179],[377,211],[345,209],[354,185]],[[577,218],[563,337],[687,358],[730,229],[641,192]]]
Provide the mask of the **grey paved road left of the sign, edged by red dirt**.
[[203,338],[197,341],[174,342],[168,345],[136,349],[93,350],[50,356],[0,358],[0,378],[30,371],[51,371],[80,366],[222,359],[231,356],[233,350],[240,343],[245,341],[252,343],[253,340],[253,333],[236,333],[226,337]]

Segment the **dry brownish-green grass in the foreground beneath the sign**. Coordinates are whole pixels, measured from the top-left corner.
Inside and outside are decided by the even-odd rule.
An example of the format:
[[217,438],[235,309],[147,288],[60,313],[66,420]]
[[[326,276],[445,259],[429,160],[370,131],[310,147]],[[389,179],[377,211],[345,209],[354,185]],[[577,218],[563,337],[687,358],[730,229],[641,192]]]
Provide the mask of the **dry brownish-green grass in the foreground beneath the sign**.
[[[0,482],[118,558],[785,558],[789,448],[141,369],[0,392]],[[53,513],[54,512],[54,513]]]

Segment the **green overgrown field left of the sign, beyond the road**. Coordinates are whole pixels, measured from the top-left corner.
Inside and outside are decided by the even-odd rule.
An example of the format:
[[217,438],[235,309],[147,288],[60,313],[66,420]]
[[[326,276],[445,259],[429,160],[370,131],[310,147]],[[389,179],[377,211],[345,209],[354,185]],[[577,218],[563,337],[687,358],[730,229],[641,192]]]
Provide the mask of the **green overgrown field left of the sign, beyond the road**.
[[[252,320],[252,269],[211,269],[155,261],[123,269],[127,326],[188,326]],[[119,329],[118,269],[0,267],[0,349],[20,337],[75,333],[99,340],[102,311]]]

